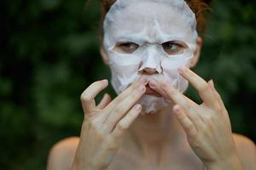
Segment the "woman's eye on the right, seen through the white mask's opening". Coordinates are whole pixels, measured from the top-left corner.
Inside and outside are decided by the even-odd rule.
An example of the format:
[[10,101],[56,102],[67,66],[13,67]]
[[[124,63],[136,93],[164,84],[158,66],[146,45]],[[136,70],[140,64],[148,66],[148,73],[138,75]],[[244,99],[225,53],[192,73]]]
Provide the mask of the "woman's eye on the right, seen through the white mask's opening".
[[165,50],[166,54],[169,54],[169,55],[182,54],[183,50],[185,48],[188,48],[188,46],[184,42],[177,42],[177,41],[164,42],[162,43],[162,47]]

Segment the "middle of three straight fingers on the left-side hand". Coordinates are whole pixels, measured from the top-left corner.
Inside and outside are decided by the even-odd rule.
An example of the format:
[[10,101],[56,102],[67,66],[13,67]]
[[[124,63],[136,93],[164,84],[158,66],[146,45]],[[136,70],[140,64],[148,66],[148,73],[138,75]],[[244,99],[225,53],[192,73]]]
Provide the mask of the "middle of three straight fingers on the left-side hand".
[[130,95],[128,95],[119,105],[117,105],[113,111],[109,114],[106,119],[106,126],[108,132],[112,131],[113,127],[116,125],[119,120],[127,114],[131,107],[137,103],[137,100],[140,99],[145,93],[146,88],[143,85],[140,85],[137,89],[134,89]]

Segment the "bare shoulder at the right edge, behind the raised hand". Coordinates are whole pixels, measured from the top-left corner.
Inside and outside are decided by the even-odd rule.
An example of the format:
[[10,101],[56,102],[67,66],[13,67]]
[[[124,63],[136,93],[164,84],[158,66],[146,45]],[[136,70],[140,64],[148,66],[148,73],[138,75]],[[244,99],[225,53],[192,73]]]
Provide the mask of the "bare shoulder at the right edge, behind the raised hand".
[[233,133],[236,150],[240,156],[241,163],[245,170],[256,167],[256,147],[251,139],[241,134]]

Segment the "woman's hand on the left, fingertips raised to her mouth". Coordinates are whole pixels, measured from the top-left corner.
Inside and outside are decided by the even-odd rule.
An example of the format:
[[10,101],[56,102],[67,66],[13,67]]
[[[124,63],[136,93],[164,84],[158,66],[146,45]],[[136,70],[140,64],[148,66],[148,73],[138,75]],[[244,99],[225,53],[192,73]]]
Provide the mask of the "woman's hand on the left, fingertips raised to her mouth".
[[112,102],[106,94],[99,105],[96,105],[95,97],[108,87],[107,80],[94,82],[84,91],[81,95],[84,122],[73,170],[108,168],[125,130],[142,111],[142,106],[136,103],[145,93],[147,83],[141,78]]

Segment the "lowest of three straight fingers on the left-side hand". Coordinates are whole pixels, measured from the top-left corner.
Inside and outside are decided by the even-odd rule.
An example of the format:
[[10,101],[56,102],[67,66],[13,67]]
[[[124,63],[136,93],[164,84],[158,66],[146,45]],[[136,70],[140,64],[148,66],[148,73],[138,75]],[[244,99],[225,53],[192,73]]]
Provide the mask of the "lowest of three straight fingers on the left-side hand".
[[114,139],[120,139],[123,133],[125,133],[125,130],[128,129],[132,122],[134,122],[139,116],[140,112],[142,111],[142,105],[135,105],[131,111],[127,113],[124,118],[122,118],[117,125],[114,127],[113,132],[111,135],[113,136]]

